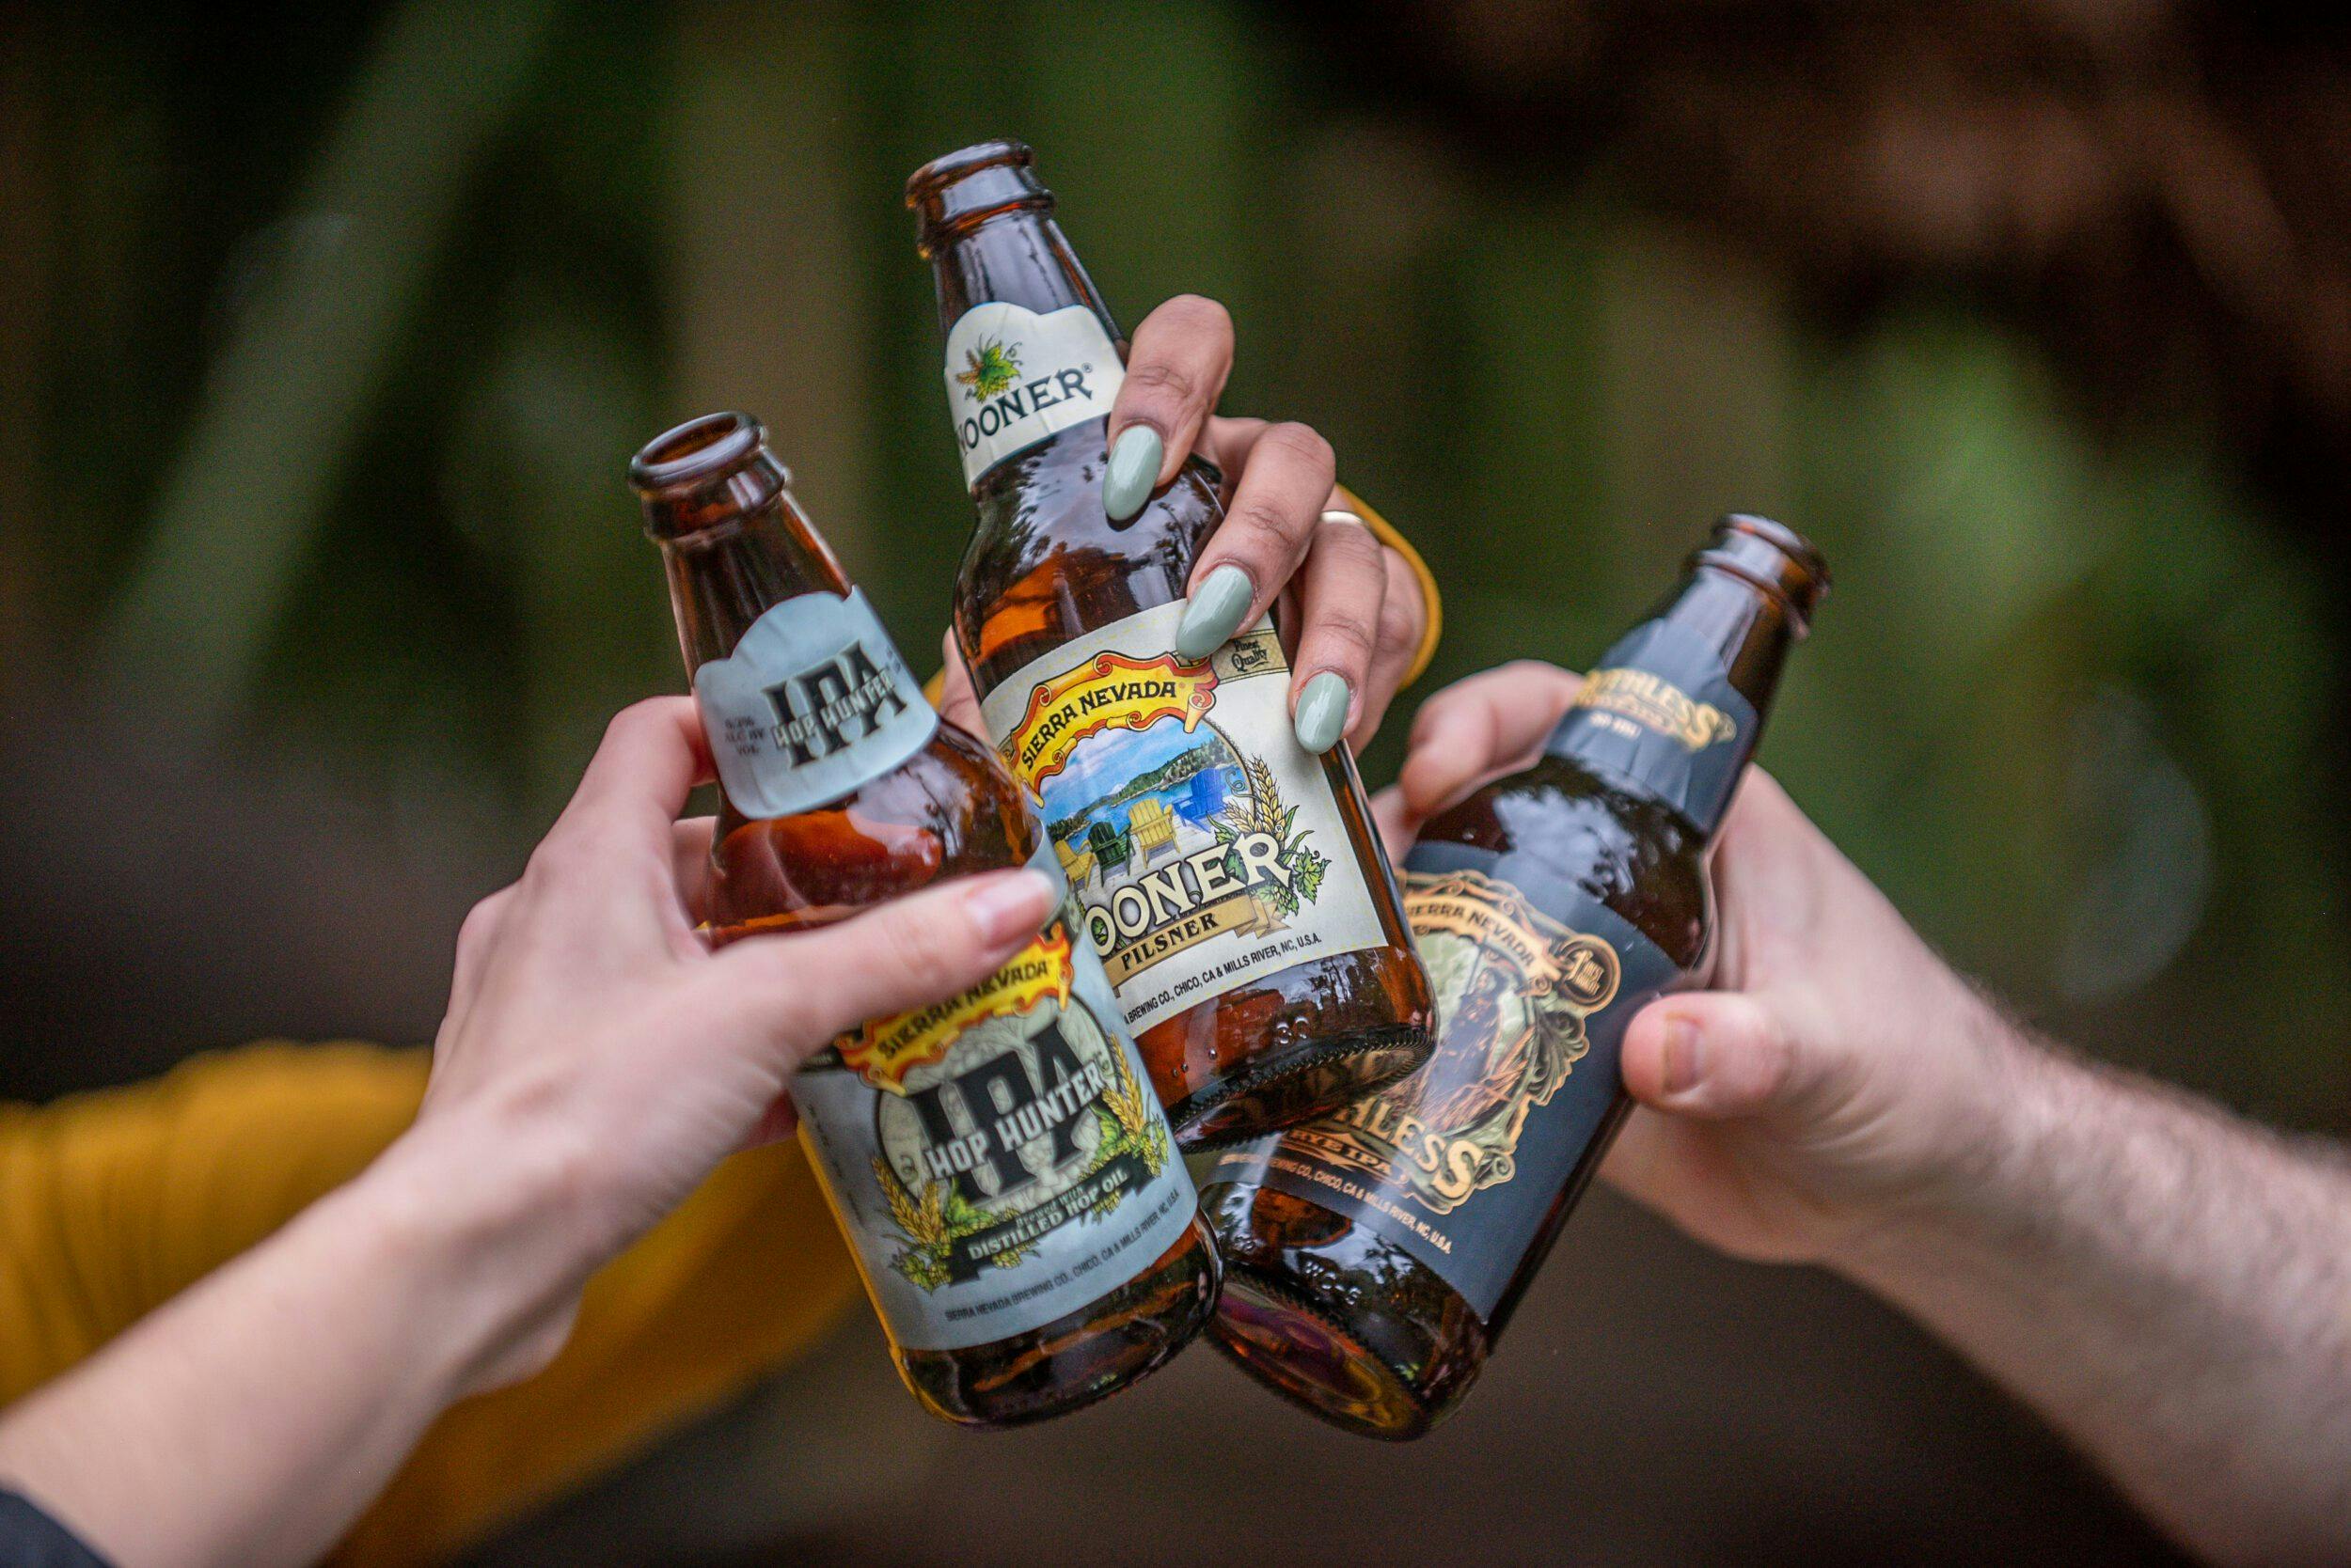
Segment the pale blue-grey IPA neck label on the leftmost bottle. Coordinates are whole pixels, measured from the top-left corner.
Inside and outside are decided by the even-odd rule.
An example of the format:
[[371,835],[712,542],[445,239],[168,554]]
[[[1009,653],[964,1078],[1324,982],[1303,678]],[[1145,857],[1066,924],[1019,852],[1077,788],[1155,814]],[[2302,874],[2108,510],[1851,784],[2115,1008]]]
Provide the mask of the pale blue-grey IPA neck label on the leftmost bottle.
[[734,654],[694,672],[726,799],[792,816],[849,795],[924,745],[938,715],[898,644],[851,588],[771,604]]

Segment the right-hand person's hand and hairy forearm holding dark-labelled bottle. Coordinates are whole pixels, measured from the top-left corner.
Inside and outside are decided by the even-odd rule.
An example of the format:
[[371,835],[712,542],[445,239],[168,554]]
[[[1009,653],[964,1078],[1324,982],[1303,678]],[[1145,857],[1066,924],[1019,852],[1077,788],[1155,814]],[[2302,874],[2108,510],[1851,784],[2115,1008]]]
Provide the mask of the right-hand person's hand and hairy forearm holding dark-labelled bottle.
[[[1533,762],[1575,686],[1521,663],[1429,698],[1373,802],[1392,853]],[[1911,1312],[2205,1556],[2351,1561],[2342,1152],[2031,1039],[1759,769],[1714,889],[1714,990],[1632,1020],[1603,1173]]]

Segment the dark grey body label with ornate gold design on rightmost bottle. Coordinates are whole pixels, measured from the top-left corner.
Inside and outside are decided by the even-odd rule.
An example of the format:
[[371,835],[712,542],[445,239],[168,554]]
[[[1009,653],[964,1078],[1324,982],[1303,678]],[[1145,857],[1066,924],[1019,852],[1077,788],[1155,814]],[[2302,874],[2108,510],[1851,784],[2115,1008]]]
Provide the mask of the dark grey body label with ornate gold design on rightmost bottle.
[[1404,905],[1436,992],[1427,1065],[1227,1150],[1208,1173],[1366,1225],[1486,1321],[1615,1126],[1625,1025],[1679,973],[1599,903],[1542,910],[1493,867],[1458,844],[1422,844],[1406,863]]

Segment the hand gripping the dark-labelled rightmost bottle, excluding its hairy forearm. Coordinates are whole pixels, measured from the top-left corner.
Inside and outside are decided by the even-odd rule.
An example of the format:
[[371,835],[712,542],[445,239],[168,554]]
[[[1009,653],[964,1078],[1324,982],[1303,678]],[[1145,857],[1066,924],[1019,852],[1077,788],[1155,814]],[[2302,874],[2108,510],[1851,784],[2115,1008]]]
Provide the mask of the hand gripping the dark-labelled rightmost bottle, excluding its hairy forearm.
[[[1528,766],[1578,684],[1528,661],[1432,696],[1373,799],[1389,853]],[[1632,1020],[1625,1086],[1641,1107],[1603,1175],[1740,1258],[1836,1260],[1989,1157],[2017,1034],[1761,769],[1712,870],[1714,990]]]

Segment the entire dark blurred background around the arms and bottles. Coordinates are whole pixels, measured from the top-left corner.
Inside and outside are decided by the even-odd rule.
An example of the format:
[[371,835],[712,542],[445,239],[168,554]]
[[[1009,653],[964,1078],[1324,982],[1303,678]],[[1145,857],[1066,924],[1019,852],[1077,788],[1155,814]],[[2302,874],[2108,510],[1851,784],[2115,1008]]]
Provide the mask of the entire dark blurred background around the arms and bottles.
[[[0,1095],[430,1037],[465,905],[682,686],[623,487],[661,425],[764,416],[926,658],[971,512],[898,188],[1016,134],[1121,320],[1227,301],[1227,411],[1317,423],[1427,552],[1422,689],[1587,661],[1709,517],[1780,515],[1838,581],[1766,748],[1813,816],[2052,1032],[2342,1133],[2346,42],[2184,0],[0,9]],[[962,1439],[851,1324],[484,1561],[811,1549],[2168,1561],[1869,1300],[1608,1194],[1415,1448],[1208,1352]]]

